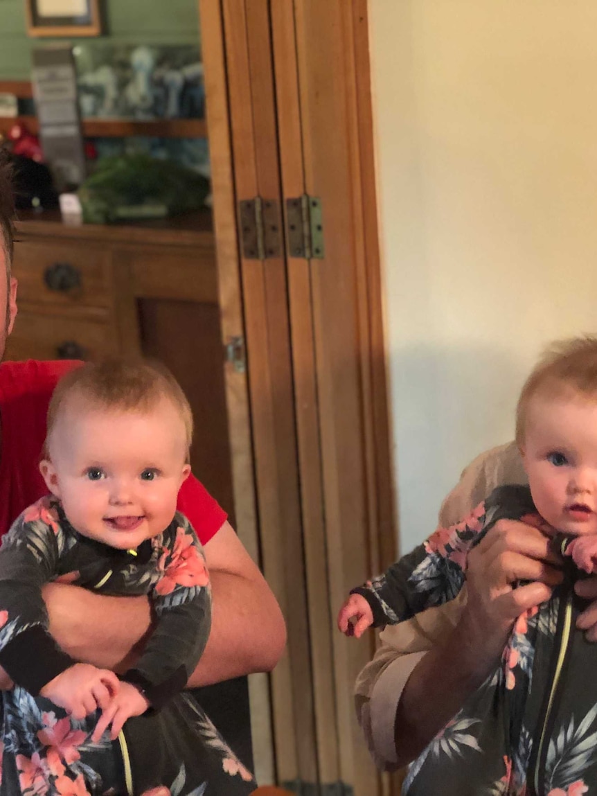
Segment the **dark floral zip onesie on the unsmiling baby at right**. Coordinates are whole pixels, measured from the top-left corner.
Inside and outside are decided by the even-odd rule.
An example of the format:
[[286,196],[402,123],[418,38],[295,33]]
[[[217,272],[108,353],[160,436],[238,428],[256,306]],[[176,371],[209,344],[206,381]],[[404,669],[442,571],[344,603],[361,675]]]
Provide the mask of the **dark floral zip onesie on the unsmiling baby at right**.
[[[447,603],[465,581],[467,553],[501,518],[545,525],[527,486],[499,487],[465,521],[439,528],[353,591],[377,626]],[[583,576],[564,559],[564,582],[518,618],[500,665],[411,764],[403,794],[597,794],[597,644],[576,629],[587,603],[573,590]]]

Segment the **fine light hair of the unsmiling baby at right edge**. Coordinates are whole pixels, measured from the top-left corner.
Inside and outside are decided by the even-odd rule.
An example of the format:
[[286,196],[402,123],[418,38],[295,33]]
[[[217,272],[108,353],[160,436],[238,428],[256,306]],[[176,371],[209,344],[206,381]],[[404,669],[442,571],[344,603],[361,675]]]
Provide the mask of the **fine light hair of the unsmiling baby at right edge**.
[[529,403],[535,396],[560,398],[575,394],[597,400],[597,335],[556,341],[545,349],[518,399],[516,441],[519,447],[525,438]]

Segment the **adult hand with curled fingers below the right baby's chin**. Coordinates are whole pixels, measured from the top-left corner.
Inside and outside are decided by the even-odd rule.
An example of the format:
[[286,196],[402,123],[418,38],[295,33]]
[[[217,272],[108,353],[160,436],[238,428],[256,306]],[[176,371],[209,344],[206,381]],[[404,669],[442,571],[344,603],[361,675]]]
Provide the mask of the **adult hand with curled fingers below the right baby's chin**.
[[470,642],[487,654],[500,653],[516,619],[549,599],[561,583],[560,564],[540,529],[523,521],[497,521],[467,559],[468,600],[461,622]]

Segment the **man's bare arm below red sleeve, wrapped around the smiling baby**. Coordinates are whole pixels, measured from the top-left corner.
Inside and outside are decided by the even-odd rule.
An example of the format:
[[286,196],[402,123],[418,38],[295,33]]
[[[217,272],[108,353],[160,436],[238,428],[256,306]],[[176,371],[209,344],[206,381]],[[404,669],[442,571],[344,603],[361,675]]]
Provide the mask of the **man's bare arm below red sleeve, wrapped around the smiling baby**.
[[[286,643],[271,589],[228,521],[204,550],[212,584],[212,630],[189,685],[271,671]],[[117,672],[135,665],[151,628],[145,597],[109,597],[51,583],[44,598],[53,638],[76,660]]]

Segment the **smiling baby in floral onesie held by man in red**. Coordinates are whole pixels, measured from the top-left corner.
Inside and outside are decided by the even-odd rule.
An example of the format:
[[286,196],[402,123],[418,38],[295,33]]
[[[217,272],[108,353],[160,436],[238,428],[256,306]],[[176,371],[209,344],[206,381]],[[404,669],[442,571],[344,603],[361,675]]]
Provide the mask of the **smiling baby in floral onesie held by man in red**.
[[[177,512],[192,434],[189,402],[160,365],[88,363],[57,384],[40,462],[49,495],[25,509],[0,548],[0,665],[19,686],[2,697],[17,727],[5,762],[8,754],[21,765],[31,743],[39,759],[50,754],[42,732],[50,700],[75,722],[81,746],[66,762],[78,782],[84,754],[111,755],[127,720],[185,688],[211,624],[201,543]],[[41,596],[52,580],[150,597],[153,631],[133,668],[117,677],[60,650]],[[41,735],[32,740],[35,720]],[[41,768],[55,786],[56,771]]]

